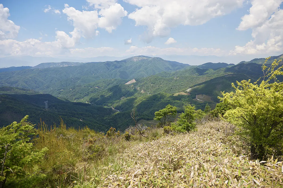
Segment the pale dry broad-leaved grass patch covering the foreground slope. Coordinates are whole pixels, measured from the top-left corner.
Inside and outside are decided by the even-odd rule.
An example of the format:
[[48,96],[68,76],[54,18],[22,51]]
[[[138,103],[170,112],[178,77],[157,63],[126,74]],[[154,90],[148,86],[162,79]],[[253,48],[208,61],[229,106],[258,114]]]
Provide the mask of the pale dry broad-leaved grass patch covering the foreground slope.
[[250,161],[229,140],[232,133],[227,123],[207,122],[134,145],[76,187],[283,187],[282,162]]

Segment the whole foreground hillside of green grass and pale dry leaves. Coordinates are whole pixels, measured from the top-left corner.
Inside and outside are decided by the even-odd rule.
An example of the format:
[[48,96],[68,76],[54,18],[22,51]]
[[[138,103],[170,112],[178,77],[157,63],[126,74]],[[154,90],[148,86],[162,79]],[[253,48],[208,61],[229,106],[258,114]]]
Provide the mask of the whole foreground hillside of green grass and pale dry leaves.
[[[250,161],[234,128],[222,121],[199,124],[196,131],[166,135],[148,128],[110,136],[91,129],[42,126],[33,149],[47,148],[37,176],[8,177],[8,187],[282,187],[282,162]],[[114,132],[115,134],[117,132]],[[196,139],[197,138],[197,139]],[[232,138],[236,139],[233,140]],[[59,159],[59,160],[58,160]],[[44,175],[42,175],[44,174]]]

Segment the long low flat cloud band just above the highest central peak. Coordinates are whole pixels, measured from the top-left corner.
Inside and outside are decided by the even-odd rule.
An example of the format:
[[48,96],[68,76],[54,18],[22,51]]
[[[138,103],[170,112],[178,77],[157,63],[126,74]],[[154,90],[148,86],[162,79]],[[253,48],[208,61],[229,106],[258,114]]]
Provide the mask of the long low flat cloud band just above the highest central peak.
[[158,48],[153,46],[136,47],[131,46],[125,55],[224,55],[224,51],[214,48]]

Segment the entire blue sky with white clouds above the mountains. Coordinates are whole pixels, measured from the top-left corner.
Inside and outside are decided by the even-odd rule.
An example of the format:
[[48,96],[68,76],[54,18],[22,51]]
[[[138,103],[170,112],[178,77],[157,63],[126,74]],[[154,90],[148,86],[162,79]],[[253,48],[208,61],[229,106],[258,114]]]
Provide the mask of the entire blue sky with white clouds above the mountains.
[[0,57],[283,54],[283,0],[2,0]]

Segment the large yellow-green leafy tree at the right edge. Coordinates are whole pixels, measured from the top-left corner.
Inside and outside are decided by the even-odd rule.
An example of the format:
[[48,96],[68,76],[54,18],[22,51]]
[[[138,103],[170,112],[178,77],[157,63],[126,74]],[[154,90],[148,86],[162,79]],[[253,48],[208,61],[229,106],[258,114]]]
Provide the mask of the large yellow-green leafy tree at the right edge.
[[277,68],[279,62],[269,68],[264,63],[262,78],[254,83],[237,81],[237,87],[232,83],[235,92],[222,92],[219,97],[230,106],[224,118],[240,128],[237,133],[248,142],[252,160],[283,154],[283,82],[276,78],[283,75],[283,65]]

